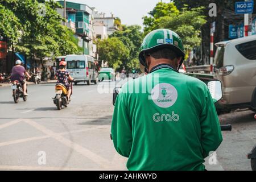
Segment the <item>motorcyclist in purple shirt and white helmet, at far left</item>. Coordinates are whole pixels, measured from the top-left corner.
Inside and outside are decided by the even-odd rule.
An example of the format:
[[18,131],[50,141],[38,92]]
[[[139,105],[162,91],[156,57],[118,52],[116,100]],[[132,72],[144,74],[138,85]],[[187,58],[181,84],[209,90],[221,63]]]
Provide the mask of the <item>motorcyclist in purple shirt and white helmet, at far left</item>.
[[16,60],[15,66],[11,70],[11,81],[19,81],[20,84],[22,84],[22,89],[23,89],[23,95],[27,96],[27,84],[25,81],[24,76],[26,75],[28,78],[31,78],[30,74],[26,71],[26,69],[21,65],[22,61]]

